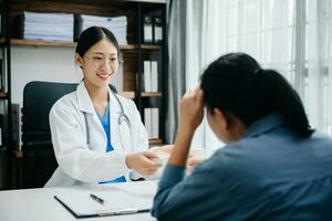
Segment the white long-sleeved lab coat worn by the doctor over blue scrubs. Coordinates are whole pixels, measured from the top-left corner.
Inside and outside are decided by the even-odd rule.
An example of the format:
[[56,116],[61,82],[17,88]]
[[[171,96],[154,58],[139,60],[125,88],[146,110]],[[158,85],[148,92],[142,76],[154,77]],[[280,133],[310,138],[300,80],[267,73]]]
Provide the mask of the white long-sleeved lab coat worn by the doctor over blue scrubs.
[[45,187],[97,185],[121,176],[125,176],[127,181],[129,178],[139,178],[138,173],[127,168],[125,156],[148,149],[146,129],[134,102],[117,95],[131,122],[131,129],[126,123],[122,123],[120,133],[121,107],[110,90],[108,94],[111,143],[114,148],[108,152],[106,134],[83,82],[75,92],[64,95],[53,105],[50,127],[59,167]]

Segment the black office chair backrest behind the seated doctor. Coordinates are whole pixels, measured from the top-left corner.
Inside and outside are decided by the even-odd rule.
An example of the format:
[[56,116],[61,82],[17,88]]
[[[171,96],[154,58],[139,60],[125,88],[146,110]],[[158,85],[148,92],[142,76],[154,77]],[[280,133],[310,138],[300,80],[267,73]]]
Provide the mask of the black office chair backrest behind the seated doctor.
[[58,167],[51,141],[49,113],[77,84],[30,82],[23,91],[22,188],[43,187]]

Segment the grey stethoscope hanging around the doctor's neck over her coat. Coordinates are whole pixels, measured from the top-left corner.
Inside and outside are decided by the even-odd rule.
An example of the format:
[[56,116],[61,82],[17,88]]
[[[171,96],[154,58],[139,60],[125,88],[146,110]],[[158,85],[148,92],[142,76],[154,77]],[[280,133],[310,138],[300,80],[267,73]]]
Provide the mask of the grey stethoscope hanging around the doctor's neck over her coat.
[[[123,128],[125,125],[127,125],[127,128],[129,129],[129,137],[131,137],[131,145],[133,148],[133,134],[132,134],[132,124],[131,124],[131,120],[128,118],[128,116],[125,114],[124,112],[124,108],[123,108],[123,105],[122,105],[122,102],[120,101],[120,98],[117,97],[117,95],[112,91],[111,91],[111,94],[115,97],[118,106],[120,106],[120,115],[117,117],[117,129],[118,129],[118,135],[120,135],[120,141],[121,141],[121,146],[122,148],[124,149],[124,140],[123,140]],[[89,129],[89,124],[87,124],[87,119],[86,119],[86,113],[84,112],[84,119],[85,119],[85,128],[86,128],[86,140],[87,140],[87,145],[90,144],[90,129]],[[111,130],[110,130],[111,133]],[[111,136],[111,135],[110,135]]]

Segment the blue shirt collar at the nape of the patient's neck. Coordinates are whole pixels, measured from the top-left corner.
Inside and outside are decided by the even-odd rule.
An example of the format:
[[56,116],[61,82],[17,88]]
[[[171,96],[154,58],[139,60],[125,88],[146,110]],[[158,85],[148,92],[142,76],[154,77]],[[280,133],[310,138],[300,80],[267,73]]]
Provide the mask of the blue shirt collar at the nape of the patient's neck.
[[282,116],[278,113],[270,114],[250,125],[243,137],[255,137],[283,125]]

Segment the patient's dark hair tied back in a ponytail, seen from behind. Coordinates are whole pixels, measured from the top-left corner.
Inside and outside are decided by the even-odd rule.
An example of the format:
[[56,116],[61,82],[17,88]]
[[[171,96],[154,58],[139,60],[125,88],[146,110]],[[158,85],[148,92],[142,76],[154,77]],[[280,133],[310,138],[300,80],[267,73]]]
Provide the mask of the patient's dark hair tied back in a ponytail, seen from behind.
[[229,53],[212,62],[201,75],[205,105],[239,118],[247,127],[280,113],[287,128],[309,137],[312,129],[298,93],[274,70],[263,70],[246,53]]

